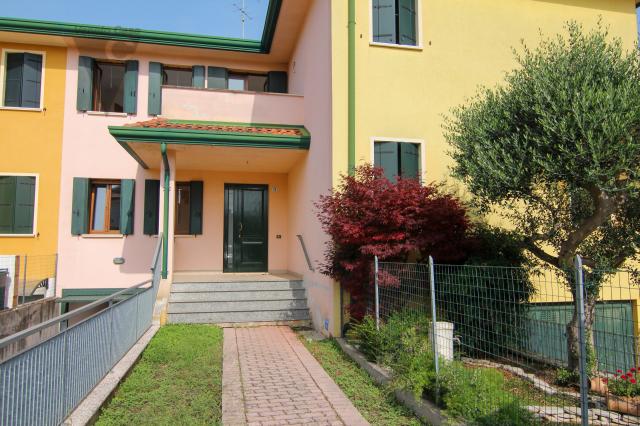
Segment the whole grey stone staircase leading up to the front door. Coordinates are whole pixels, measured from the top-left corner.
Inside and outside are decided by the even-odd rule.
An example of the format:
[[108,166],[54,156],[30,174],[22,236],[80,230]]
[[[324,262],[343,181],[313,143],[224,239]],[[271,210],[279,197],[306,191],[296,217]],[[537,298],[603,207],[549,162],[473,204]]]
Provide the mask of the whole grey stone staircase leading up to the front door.
[[301,280],[174,282],[169,323],[310,323]]

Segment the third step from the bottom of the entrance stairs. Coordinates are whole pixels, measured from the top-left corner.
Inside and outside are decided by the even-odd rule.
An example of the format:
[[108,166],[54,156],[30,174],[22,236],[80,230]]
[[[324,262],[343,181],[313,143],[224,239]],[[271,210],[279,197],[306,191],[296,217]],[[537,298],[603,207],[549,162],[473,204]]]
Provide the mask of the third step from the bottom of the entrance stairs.
[[179,302],[236,302],[249,300],[306,299],[304,290],[243,290],[209,292],[171,292],[169,303]]

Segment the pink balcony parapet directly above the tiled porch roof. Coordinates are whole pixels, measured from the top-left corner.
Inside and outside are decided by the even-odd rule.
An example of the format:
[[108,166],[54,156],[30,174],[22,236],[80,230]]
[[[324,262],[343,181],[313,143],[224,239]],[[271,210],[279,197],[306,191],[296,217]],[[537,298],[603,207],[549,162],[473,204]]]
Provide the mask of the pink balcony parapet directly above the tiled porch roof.
[[162,115],[184,120],[302,124],[304,98],[276,93],[165,87]]

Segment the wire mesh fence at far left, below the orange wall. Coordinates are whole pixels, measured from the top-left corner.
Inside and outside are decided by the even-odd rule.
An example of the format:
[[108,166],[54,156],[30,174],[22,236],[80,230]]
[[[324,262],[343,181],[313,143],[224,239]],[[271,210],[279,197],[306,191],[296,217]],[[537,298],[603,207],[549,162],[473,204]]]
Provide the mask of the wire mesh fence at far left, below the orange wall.
[[55,295],[58,256],[0,256],[0,310]]

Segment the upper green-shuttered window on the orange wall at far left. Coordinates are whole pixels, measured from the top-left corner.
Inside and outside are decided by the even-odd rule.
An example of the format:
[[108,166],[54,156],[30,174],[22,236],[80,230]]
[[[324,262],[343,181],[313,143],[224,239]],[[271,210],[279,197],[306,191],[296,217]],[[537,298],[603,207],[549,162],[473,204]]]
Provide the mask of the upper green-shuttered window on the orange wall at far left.
[[4,57],[3,106],[40,108],[42,97],[43,55],[8,52]]

